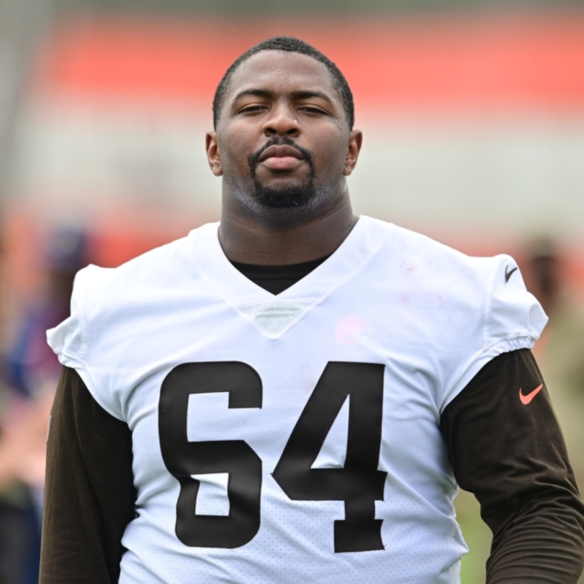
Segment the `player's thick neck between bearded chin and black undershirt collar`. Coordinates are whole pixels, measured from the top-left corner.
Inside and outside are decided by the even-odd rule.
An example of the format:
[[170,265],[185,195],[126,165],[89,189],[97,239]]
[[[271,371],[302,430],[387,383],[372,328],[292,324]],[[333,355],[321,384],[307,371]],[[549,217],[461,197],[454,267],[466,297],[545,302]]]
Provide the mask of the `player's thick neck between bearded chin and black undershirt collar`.
[[219,240],[233,262],[272,266],[302,263],[333,253],[356,223],[346,194],[328,213],[290,225],[241,217],[224,207]]

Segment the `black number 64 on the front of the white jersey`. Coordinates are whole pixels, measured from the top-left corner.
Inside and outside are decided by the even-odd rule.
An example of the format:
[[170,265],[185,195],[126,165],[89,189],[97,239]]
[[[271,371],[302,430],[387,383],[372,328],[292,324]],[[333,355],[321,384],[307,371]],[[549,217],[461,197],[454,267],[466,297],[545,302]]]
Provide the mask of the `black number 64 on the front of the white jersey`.
[[[375,501],[383,500],[387,472],[377,469],[381,446],[384,366],[328,363],[298,418],[273,477],[293,500],[342,500],[335,552],[383,550]],[[162,458],[178,479],[176,535],[189,546],[239,547],[260,526],[262,462],[244,440],[189,442],[186,409],[193,393],[227,391],[230,408],[261,408],[262,381],[239,361],[185,363],[162,383],[159,436]],[[332,423],[349,398],[349,432],[343,468],[312,468]],[[228,517],[194,513],[199,481],[193,474],[229,472]]]

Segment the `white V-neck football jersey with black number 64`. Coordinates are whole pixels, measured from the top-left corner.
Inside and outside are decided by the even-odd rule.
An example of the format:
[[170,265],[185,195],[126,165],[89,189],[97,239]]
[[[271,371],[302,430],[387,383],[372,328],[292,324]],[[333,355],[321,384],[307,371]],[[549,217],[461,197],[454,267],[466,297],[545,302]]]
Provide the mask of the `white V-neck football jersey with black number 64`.
[[459,582],[440,415],[545,324],[513,259],[361,217],[274,296],[217,231],[82,270],[48,333],[133,434],[120,583]]

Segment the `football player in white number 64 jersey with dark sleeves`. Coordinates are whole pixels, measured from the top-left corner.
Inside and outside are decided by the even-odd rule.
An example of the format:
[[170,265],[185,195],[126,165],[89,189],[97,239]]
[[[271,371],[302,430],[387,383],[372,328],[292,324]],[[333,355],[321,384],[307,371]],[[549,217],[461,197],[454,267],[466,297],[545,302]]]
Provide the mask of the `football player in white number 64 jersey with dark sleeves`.
[[206,138],[219,224],[77,276],[49,332],[42,584],[575,582],[584,513],[513,259],[350,206],[345,78],[300,40],[238,58]]

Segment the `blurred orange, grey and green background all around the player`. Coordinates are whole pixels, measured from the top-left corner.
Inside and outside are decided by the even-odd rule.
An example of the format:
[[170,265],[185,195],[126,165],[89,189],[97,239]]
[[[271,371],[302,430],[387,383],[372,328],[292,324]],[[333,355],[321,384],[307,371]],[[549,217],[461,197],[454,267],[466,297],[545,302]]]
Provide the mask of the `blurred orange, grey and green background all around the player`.
[[[352,86],[357,213],[519,260],[550,315],[536,353],[582,472],[581,0],[0,0],[0,584],[35,581],[58,374],[44,330],[80,266],[218,219],[213,92],[276,34]],[[463,582],[481,582],[489,533],[472,497],[458,507]]]

